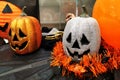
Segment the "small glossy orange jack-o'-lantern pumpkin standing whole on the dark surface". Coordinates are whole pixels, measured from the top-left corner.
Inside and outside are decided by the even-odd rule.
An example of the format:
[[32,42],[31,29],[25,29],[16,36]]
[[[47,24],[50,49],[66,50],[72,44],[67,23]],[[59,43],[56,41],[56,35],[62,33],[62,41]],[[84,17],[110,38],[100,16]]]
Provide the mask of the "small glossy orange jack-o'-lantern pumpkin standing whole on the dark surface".
[[32,16],[21,15],[9,24],[9,44],[17,54],[28,54],[40,47],[41,26]]

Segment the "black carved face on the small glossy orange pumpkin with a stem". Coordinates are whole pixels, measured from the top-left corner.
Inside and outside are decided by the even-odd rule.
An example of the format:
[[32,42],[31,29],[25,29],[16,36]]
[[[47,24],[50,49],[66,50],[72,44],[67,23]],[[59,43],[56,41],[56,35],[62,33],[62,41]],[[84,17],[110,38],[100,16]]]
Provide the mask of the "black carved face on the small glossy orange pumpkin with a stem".
[[15,31],[15,30],[10,29],[10,31],[9,31],[9,36],[12,36],[12,41],[13,41],[13,44],[11,45],[12,48],[14,48],[16,50],[24,49],[28,44],[28,38],[27,38],[26,31],[23,32],[23,30],[21,30],[21,28],[18,28],[18,30],[16,30],[15,32],[13,32],[13,31]]

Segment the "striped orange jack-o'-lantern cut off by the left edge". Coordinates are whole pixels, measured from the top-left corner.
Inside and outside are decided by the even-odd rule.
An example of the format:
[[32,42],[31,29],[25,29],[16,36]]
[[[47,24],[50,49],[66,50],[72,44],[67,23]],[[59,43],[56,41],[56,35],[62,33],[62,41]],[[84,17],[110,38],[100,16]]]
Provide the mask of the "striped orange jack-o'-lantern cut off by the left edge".
[[8,24],[21,13],[21,9],[7,1],[0,1],[0,37],[8,38]]

